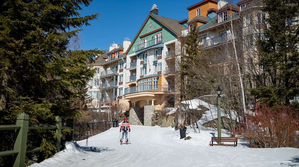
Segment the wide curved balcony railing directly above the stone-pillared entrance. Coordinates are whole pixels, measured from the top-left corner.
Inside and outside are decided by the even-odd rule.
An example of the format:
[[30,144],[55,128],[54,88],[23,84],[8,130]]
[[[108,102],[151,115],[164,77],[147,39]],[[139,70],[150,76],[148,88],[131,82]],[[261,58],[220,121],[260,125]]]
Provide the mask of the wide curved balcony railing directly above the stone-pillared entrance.
[[168,85],[139,85],[139,86],[133,86],[125,89],[126,94],[131,93],[138,93],[138,92],[172,92],[174,91],[173,86]]

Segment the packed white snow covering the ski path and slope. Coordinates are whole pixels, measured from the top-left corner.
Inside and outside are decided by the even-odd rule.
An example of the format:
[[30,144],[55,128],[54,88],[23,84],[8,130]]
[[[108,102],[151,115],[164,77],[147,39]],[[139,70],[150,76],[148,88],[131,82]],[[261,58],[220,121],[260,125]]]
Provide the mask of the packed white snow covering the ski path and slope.
[[[214,105],[198,99],[185,103],[194,109],[199,104],[210,109],[198,121],[199,125],[217,118]],[[194,132],[193,127],[188,126],[186,136],[191,139],[185,140],[180,139],[179,130],[172,127],[130,127],[128,145],[120,145],[120,127],[113,127],[88,140],[66,142],[64,150],[31,166],[299,166],[298,148],[250,148],[241,139],[236,147],[209,146],[211,137],[217,136],[217,129],[213,128],[200,126],[199,133],[199,129]],[[224,136],[229,133],[222,129]]]

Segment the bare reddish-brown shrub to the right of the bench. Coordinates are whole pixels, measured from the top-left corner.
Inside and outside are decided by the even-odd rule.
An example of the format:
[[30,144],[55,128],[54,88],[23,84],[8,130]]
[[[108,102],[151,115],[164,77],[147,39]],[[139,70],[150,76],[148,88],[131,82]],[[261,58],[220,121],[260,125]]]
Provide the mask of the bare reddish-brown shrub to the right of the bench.
[[253,148],[299,148],[299,114],[288,106],[256,105],[239,135]]

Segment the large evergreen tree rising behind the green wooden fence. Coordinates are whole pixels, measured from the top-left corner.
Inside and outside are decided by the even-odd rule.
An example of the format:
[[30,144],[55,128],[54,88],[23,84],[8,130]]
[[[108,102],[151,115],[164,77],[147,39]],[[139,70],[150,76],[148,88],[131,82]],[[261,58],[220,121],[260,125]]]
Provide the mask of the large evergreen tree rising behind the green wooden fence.
[[[15,124],[21,112],[30,124],[51,124],[55,116],[77,118],[86,81],[94,75],[86,62],[103,51],[70,51],[71,37],[98,13],[80,16],[92,0],[0,1],[0,124]],[[70,31],[70,29],[76,29]],[[10,150],[13,133],[0,131],[0,151]],[[53,132],[29,132],[28,147],[51,155]],[[33,141],[30,139],[34,139]],[[43,142],[43,144],[42,144]],[[4,159],[2,159],[4,160]]]

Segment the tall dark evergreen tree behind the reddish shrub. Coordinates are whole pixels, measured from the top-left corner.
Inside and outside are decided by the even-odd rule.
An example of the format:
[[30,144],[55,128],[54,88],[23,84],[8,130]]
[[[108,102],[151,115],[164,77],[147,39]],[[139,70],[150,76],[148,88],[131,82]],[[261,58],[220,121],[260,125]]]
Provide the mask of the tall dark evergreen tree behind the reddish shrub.
[[[265,39],[256,43],[263,76],[257,80],[258,88],[251,93],[270,106],[289,105],[299,93],[298,1],[263,2],[262,11],[267,13]],[[262,16],[257,14],[258,18]]]

